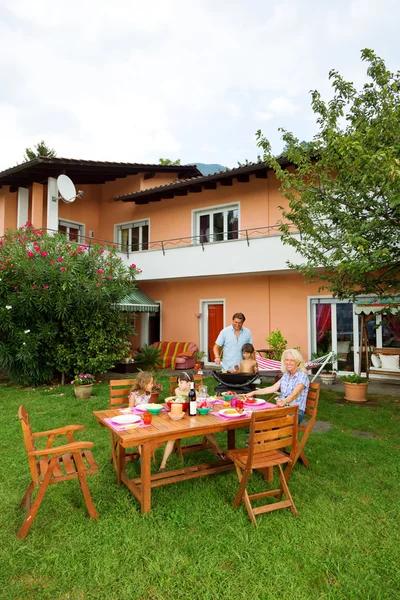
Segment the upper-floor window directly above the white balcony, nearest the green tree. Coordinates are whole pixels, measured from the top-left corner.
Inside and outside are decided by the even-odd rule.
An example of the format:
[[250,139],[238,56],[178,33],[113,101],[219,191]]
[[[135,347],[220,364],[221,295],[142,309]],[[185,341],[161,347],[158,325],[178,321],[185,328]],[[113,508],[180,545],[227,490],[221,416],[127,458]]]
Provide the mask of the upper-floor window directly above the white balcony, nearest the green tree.
[[225,207],[205,209],[196,213],[196,237],[200,243],[237,240],[239,237],[239,207],[230,204]]

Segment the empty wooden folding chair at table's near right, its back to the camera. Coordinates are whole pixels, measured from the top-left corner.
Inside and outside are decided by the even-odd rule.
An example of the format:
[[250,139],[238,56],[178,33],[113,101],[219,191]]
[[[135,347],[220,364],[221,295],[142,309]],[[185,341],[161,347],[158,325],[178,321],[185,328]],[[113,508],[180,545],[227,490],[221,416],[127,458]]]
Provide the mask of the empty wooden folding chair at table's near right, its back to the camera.
[[[250,520],[255,526],[257,526],[257,515],[281,508],[290,508],[292,514],[297,516],[297,510],[282,470],[282,465],[290,465],[296,456],[297,421],[297,405],[253,412],[248,448],[228,450],[227,452],[228,458],[234,462],[239,479],[239,489],[233,501],[233,506],[239,506],[244,502]],[[284,452],[284,449],[288,446],[291,447],[289,456]],[[249,494],[247,484],[253,469],[264,472],[271,467],[276,467],[278,470],[279,488]],[[283,494],[286,496],[286,500],[282,500]],[[252,507],[252,500],[266,497],[276,497],[277,501],[256,508]]]

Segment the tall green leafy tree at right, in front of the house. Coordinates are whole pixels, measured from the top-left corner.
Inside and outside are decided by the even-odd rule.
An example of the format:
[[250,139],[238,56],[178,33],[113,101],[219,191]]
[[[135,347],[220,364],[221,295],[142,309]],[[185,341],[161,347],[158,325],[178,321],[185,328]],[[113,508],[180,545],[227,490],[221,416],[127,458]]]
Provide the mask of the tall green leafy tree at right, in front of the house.
[[360,91],[333,70],[333,98],[312,92],[311,142],[281,130],[294,169],[281,167],[261,131],[257,138],[289,200],[282,238],[304,259],[290,266],[339,298],[385,299],[400,292],[400,72],[372,50],[361,56],[369,81]]

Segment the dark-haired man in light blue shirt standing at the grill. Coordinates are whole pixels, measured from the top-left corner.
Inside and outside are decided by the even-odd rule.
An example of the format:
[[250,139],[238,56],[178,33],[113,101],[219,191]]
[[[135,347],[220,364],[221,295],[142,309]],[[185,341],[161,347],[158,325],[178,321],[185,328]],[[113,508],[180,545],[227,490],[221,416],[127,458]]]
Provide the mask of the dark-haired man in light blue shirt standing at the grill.
[[[246,317],[243,313],[235,313],[232,317],[232,325],[225,327],[217,337],[214,351],[214,361],[221,364],[224,371],[231,371],[242,360],[243,344],[252,344],[253,338],[250,329],[243,327]],[[223,359],[221,363],[221,349],[223,348]]]

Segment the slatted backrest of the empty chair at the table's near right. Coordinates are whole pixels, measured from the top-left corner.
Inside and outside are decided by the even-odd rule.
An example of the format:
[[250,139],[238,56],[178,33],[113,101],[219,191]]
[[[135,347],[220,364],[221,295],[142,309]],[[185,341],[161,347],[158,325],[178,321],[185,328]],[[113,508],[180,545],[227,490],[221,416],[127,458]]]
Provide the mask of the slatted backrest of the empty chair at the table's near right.
[[247,468],[251,468],[255,454],[283,450],[289,446],[290,457],[293,459],[297,444],[297,421],[297,405],[254,411],[250,423]]

